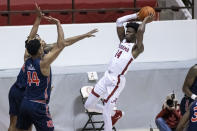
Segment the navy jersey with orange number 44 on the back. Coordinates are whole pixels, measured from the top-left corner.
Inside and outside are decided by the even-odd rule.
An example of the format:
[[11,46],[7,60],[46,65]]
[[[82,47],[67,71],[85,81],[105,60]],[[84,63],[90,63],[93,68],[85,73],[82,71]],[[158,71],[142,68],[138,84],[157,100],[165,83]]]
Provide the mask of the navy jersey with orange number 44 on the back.
[[25,73],[27,77],[25,99],[45,100],[48,104],[51,94],[51,71],[49,76],[44,76],[40,70],[40,58],[29,58],[25,62]]

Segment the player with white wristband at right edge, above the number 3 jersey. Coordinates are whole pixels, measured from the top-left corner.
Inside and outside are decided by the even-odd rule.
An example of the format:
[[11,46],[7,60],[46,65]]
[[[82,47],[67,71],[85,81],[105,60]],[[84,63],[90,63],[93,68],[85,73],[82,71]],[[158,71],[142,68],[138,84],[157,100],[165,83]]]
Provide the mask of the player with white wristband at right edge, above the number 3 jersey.
[[181,114],[189,108],[189,105],[197,99],[197,65],[193,65],[185,78],[185,82],[182,88],[185,96],[181,100]]

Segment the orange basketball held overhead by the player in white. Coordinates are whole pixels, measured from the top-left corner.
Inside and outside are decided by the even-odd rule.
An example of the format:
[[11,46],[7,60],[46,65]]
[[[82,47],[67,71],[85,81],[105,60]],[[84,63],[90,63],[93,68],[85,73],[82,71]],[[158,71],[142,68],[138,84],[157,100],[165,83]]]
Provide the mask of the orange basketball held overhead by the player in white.
[[140,9],[138,19],[143,21],[144,18],[147,17],[149,14],[153,14],[155,16],[155,10],[150,6],[145,6]]

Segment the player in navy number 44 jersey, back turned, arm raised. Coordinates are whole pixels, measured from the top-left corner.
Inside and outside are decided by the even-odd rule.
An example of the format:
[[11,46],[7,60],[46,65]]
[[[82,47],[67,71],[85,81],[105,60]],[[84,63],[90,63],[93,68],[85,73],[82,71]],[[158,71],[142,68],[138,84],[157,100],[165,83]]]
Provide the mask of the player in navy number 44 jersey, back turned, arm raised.
[[31,55],[25,62],[27,88],[21,103],[20,115],[17,119],[17,128],[27,130],[34,124],[37,131],[53,131],[54,126],[49,112],[51,94],[51,63],[58,57],[65,46],[87,37],[94,36],[94,29],[83,35],[64,39],[60,21],[53,17],[46,17],[49,22],[56,24],[58,39],[52,50],[43,56],[43,45],[38,39],[31,39],[26,44],[26,49]]

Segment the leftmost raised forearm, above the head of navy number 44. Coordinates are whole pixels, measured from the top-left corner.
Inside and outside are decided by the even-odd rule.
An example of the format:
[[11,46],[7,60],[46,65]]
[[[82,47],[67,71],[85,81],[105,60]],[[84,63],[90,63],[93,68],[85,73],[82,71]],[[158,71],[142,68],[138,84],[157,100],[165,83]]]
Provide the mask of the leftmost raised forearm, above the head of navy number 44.
[[31,32],[29,34],[29,39],[33,39],[36,36],[40,22],[41,22],[41,17],[37,16],[34,25],[31,29]]

